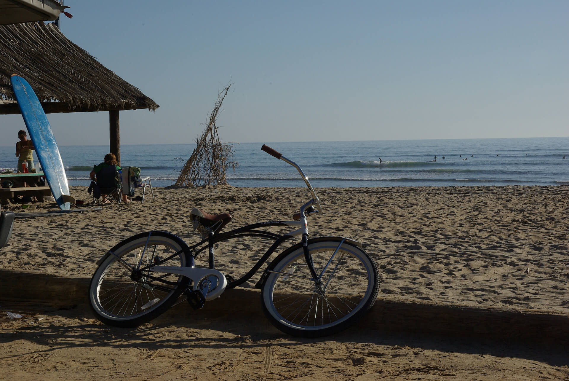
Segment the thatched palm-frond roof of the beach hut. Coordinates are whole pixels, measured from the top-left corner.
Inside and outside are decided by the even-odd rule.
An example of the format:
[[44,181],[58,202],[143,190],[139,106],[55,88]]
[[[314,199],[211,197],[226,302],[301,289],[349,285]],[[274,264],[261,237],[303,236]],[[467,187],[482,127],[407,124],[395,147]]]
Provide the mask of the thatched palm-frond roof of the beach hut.
[[0,25],[0,114],[20,113],[12,74],[30,83],[46,113],[158,108],[52,23]]

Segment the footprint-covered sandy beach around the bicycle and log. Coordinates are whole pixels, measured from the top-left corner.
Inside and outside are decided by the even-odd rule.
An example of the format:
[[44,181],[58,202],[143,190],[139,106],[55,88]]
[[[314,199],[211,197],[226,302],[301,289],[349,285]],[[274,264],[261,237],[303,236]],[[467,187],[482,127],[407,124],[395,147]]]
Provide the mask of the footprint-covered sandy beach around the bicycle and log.
[[[382,273],[378,300],[569,316],[569,187],[316,191],[323,214],[310,218],[312,235],[360,241]],[[291,219],[308,199],[303,188],[154,193],[156,200],[147,194],[142,205],[17,218],[0,268],[87,279],[106,250],[135,233],[163,230],[196,241],[188,220],[194,206],[232,214],[228,230]],[[86,199],[86,187],[72,187],[71,194]],[[34,205],[35,213],[56,210],[54,203]],[[262,252],[254,242],[219,247],[218,268],[237,277]],[[254,292],[257,279],[244,288]],[[229,303],[225,310],[202,317],[184,303],[135,330],[101,325],[85,305],[3,318],[0,364],[6,379],[569,379],[566,351],[550,346],[369,334],[369,324],[298,339],[270,326],[260,306],[244,312]]]

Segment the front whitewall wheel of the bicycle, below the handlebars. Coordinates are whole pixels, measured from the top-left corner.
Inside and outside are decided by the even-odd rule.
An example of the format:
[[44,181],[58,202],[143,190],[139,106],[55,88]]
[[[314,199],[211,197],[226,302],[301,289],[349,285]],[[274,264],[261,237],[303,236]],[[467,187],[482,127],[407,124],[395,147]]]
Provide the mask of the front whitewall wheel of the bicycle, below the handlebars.
[[346,329],[376,302],[377,265],[341,237],[310,239],[308,251],[320,282],[310,275],[302,244],[287,249],[267,268],[261,291],[265,314],[294,336],[319,337]]

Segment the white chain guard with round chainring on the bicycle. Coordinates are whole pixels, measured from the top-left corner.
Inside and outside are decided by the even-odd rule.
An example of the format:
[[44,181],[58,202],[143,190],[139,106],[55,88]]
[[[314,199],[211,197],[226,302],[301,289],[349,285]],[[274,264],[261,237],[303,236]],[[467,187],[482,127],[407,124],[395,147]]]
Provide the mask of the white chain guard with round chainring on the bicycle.
[[227,286],[222,272],[201,267],[154,266],[152,271],[179,274],[192,280],[193,290],[203,294],[206,301],[218,298]]

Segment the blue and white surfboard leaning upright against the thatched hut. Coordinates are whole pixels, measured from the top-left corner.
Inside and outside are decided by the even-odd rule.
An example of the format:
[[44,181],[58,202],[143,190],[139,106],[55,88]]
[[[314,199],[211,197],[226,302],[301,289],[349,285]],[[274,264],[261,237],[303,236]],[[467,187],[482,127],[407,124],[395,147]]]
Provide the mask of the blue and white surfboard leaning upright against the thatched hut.
[[69,210],[70,204],[75,204],[75,199],[69,195],[63,161],[42,104],[25,79],[13,74],[10,81],[53,198],[61,210]]

